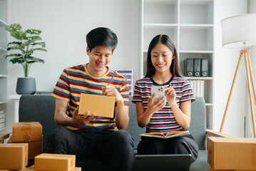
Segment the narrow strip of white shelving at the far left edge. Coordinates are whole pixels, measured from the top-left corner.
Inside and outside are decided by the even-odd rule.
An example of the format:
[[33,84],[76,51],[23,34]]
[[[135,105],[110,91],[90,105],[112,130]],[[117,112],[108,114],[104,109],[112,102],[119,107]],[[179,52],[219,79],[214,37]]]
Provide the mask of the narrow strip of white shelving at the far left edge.
[[[0,133],[6,130],[7,104],[7,0],[0,0]],[[4,115],[3,115],[4,114]]]

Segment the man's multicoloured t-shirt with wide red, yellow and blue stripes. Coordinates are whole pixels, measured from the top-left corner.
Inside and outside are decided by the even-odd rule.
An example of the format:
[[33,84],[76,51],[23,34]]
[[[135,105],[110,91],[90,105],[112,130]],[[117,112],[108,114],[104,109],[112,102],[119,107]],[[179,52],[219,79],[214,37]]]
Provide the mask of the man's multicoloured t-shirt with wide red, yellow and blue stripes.
[[[108,68],[104,76],[91,76],[85,66],[86,65],[80,65],[64,69],[52,93],[53,97],[69,102],[66,112],[69,117],[72,117],[72,112],[78,107],[81,93],[103,95],[102,88],[108,85],[114,74],[114,71]],[[126,78],[116,73],[110,85],[118,90],[123,97],[124,105],[128,106],[129,89]],[[91,120],[88,125],[68,126],[67,128],[71,130],[118,130],[118,128],[116,128],[115,118],[104,117]]]

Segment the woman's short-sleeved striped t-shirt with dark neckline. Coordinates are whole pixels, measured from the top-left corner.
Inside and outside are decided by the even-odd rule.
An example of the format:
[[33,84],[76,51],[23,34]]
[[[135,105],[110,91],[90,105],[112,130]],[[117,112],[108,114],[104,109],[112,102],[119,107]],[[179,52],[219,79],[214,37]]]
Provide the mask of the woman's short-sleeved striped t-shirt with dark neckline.
[[[167,84],[173,87],[176,93],[176,103],[180,108],[180,103],[191,100],[194,101],[193,90],[190,82],[185,78],[174,76]],[[150,87],[156,84],[152,78],[145,77],[135,83],[133,93],[133,103],[143,103],[144,111],[148,108],[148,98],[151,96]],[[169,133],[175,130],[182,130],[183,128],[176,122],[173,115],[173,110],[170,108],[168,102],[165,107],[158,110],[150,118],[146,127],[147,133]]]

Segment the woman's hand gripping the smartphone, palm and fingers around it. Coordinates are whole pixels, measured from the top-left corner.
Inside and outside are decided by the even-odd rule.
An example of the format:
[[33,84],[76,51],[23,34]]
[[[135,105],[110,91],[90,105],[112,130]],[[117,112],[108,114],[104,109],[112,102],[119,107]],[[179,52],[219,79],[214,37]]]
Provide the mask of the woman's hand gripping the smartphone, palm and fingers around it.
[[165,104],[166,104],[166,98],[165,97],[160,98],[160,100],[158,100],[155,103],[154,103],[154,98],[155,98],[155,94],[153,94],[153,96],[148,98],[148,108],[147,108],[147,110],[151,114],[156,113],[158,110],[165,107]]

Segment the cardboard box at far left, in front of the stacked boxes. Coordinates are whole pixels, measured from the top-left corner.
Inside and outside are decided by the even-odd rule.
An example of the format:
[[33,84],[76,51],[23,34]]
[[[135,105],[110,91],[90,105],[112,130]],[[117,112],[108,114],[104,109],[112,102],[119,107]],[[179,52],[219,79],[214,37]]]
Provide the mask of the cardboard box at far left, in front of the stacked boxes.
[[28,165],[28,143],[0,144],[0,170],[21,170]]

